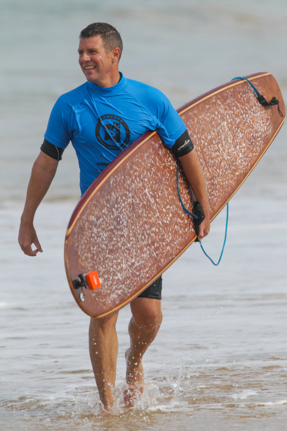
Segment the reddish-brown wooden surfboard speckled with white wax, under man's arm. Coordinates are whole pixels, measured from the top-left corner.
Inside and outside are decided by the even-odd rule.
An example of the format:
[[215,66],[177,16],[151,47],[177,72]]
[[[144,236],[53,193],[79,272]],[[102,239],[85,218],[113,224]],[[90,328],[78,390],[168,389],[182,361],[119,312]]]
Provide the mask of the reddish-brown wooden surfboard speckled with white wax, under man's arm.
[[[211,219],[246,180],[285,119],[275,78],[267,72],[230,81],[187,103],[178,113],[204,171]],[[251,88],[266,101],[264,106]],[[274,99],[273,99],[274,101]],[[192,211],[182,172],[179,188]],[[155,131],[119,154],[88,188],[66,232],[65,269],[71,292],[88,315],[124,307],[159,277],[196,239],[179,203],[176,159]]]

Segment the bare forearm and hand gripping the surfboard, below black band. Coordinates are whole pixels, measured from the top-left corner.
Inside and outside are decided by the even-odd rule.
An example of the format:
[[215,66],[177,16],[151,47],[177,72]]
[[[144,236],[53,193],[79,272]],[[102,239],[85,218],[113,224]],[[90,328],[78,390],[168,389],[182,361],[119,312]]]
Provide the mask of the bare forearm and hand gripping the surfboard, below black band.
[[180,161],[187,181],[191,185],[196,200],[201,204],[202,210],[205,215],[204,220],[199,226],[198,239],[199,241],[201,241],[206,235],[208,235],[210,230],[210,207],[207,197],[203,170],[201,168],[201,164],[195,149],[181,157],[178,157],[178,160]]

